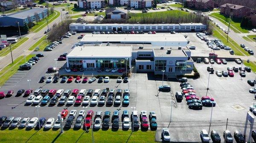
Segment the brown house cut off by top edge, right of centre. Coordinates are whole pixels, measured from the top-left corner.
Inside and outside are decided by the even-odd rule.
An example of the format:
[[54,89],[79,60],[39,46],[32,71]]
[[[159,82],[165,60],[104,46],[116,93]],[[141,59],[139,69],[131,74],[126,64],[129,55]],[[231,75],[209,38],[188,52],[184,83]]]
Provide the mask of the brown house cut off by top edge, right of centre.
[[212,10],[214,8],[213,0],[186,0],[186,6],[195,9],[208,9]]

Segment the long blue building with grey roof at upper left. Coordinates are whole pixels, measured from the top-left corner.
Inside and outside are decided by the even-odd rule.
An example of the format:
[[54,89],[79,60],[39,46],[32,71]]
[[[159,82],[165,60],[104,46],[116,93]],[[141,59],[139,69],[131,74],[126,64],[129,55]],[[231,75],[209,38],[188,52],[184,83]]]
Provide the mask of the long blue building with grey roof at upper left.
[[[24,26],[25,23],[34,22],[37,18],[44,19],[47,17],[48,9],[47,8],[32,8],[29,10],[19,11],[14,14],[9,14],[3,17],[0,17],[0,26]],[[35,15],[36,14],[36,15]]]

